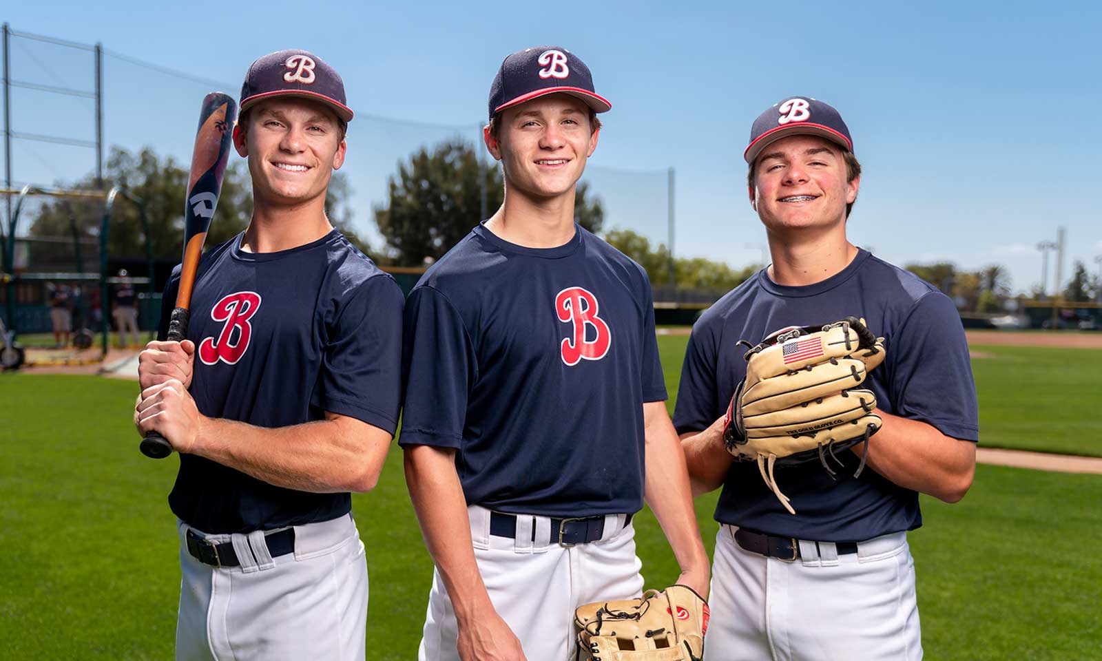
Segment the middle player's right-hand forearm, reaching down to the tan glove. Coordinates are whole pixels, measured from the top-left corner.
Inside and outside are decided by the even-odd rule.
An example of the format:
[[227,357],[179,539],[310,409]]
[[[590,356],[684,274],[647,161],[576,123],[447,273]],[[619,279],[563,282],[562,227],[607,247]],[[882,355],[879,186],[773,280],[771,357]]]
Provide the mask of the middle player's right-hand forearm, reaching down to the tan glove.
[[[706,576],[707,553],[696,525],[684,453],[665,408],[661,415],[650,418],[646,432],[644,497],[662,527],[681,571]],[[706,588],[706,581],[704,587]]]

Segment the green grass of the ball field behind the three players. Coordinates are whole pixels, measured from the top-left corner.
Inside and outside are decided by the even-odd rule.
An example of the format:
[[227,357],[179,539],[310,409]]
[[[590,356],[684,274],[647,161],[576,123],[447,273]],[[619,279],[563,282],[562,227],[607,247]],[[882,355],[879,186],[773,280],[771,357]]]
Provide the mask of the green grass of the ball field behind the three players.
[[[685,340],[660,338],[671,402]],[[993,357],[975,369],[985,443],[1041,447],[1030,445],[1037,430],[1059,429],[1068,443],[1056,447],[1098,449],[1084,402],[1098,392],[1085,386],[1102,351],[984,351]],[[1074,381],[1080,400],[1047,394],[1074,379],[1061,366],[1084,372]],[[2,659],[172,655],[180,571],[166,495],[176,460],[138,453],[128,414],[136,388],[97,377],[0,376]],[[911,544],[927,658],[1102,659],[1100,498],[1102,476],[991,466],[977,468],[959,505],[923,497],[926,525]],[[709,550],[714,502],[715,494],[696,501]],[[371,581],[368,659],[412,659],[432,565],[397,447],[378,487],[353,507]],[[645,512],[636,525],[648,586],[668,584],[677,566],[657,523]]]

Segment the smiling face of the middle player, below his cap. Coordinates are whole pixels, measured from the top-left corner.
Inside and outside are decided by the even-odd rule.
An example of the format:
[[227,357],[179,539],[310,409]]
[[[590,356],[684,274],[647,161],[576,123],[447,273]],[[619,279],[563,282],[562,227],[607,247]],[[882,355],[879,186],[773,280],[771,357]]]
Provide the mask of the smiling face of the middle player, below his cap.
[[599,133],[584,101],[551,94],[506,108],[499,119],[486,130],[486,147],[501,161],[510,192],[552,198],[574,189]]

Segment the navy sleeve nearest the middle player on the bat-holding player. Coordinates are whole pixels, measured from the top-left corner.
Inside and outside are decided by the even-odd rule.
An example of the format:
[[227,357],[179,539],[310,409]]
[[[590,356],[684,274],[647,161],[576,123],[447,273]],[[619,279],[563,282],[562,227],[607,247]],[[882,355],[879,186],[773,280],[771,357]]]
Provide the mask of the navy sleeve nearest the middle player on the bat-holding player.
[[368,278],[341,301],[322,346],[311,403],[393,435],[401,398],[402,291]]

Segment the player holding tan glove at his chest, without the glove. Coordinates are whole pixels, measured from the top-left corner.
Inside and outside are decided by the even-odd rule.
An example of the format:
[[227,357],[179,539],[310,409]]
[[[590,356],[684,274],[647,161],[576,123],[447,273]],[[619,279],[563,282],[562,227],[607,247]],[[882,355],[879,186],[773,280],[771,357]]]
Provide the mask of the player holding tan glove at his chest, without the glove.
[[[712,567],[711,659],[919,659],[907,531],[918,494],[960,500],[975,466],[975,387],[957,310],[947,296],[846,239],[861,166],[838,111],[810,97],[771,106],[745,153],[750,205],[773,264],[693,326],[674,425],[693,491],[723,487]],[[746,348],[788,326],[864,317],[886,338],[863,388],[882,427],[843,452],[836,481],[818,462],[786,467],[796,514],[754,463],[733,463],[724,412],[746,372]]]

